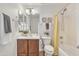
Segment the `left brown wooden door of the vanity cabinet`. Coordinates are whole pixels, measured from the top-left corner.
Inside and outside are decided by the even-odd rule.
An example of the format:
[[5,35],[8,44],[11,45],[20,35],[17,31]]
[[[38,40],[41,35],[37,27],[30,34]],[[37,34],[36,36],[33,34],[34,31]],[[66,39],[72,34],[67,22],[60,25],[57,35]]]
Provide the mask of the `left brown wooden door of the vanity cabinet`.
[[19,39],[17,40],[17,56],[27,56],[27,40]]

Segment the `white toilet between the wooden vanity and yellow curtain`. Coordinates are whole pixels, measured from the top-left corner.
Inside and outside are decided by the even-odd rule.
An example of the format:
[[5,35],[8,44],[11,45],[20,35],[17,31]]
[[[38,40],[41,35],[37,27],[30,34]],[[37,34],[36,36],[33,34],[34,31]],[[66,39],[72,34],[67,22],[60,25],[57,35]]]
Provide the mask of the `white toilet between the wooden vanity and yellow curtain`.
[[44,51],[45,51],[45,56],[52,56],[54,49],[51,45],[51,37],[42,37],[43,42],[44,42]]

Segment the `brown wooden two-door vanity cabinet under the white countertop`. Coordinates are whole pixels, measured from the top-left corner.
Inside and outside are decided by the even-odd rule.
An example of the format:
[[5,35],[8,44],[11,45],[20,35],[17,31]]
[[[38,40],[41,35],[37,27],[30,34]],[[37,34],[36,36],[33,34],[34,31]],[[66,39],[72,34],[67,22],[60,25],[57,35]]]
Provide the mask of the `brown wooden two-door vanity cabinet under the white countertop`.
[[39,56],[39,40],[18,39],[17,56]]

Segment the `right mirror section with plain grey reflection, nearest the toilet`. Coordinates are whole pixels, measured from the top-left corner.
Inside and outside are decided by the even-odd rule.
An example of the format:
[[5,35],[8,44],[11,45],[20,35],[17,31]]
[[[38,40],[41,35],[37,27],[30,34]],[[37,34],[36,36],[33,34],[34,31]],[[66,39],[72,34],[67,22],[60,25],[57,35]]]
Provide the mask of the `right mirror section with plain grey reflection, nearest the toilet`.
[[29,23],[30,23],[30,32],[34,34],[38,34],[38,23],[40,20],[40,15],[30,15],[29,16]]

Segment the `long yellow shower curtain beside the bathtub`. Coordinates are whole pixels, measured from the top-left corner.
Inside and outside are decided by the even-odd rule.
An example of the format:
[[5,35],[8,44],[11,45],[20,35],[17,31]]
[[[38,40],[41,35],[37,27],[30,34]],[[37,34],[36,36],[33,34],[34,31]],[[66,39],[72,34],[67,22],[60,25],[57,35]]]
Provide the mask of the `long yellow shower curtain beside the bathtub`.
[[58,15],[54,16],[54,56],[59,55],[59,44],[58,44]]

